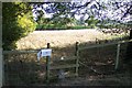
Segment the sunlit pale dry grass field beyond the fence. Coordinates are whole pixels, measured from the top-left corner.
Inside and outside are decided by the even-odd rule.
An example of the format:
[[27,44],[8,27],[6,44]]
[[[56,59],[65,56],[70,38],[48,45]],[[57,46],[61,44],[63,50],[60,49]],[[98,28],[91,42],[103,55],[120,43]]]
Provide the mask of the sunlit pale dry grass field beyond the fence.
[[97,30],[34,31],[16,44],[18,50],[46,47],[46,43],[51,43],[53,47],[65,47],[75,42],[103,40],[109,36]]

